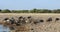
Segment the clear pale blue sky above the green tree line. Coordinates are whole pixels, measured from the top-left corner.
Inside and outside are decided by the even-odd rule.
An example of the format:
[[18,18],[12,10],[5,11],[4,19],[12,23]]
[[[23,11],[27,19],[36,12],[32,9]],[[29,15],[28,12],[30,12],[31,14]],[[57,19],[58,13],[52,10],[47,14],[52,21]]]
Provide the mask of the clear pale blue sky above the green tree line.
[[0,9],[60,9],[60,0],[0,0]]

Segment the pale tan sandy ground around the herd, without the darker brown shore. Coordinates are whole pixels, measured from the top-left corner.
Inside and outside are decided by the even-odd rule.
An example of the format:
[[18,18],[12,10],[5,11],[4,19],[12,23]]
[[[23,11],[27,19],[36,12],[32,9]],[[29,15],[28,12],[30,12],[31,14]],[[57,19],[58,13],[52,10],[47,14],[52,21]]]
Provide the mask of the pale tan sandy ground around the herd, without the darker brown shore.
[[[32,16],[44,20],[43,23],[38,23],[37,25],[27,24],[30,29],[33,28],[33,30],[29,30],[28,32],[60,32],[60,20],[55,22],[56,18],[60,18],[60,14],[56,13],[0,13],[0,21],[2,22],[6,17],[18,18],[19,16]],[[49,17],[53,19],[51,22],[46,21]]]

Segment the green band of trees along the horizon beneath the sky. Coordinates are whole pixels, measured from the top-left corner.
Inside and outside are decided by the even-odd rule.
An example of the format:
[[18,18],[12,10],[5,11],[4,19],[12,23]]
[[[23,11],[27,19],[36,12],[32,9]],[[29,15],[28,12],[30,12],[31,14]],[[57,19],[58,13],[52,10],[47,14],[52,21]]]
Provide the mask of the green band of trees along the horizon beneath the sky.
[[0,13],[60,13],[60,9],[49,10],[49,9],[32,9],[32,10],[9,10],[0,9]]

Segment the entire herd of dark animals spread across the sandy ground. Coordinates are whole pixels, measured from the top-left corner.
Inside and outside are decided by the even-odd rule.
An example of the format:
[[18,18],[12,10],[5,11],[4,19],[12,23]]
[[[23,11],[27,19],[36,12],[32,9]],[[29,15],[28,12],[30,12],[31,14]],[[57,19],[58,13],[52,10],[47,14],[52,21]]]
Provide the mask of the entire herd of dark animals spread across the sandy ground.
[[[11,17],[11,18],[4,18],[4,24],[8,25],[16,25],[16,26],[22,26],[22,25],[26,25],[26,24],[29,24],[29,23],[33,23],[33,24],[38,24],[38,23],[43,23],[44,20],[43,19],[34,19],[32,16],[28,16],[28,17],[23,17],[23,16],[20,16],[18,17],[18,19],[15,19],[14,17]],[[58,21],[60,20],[60,18],[56,18],[55,21]],[[53,21],[53,18],[52,17],[49,17],[48,19],[46,19],[46,22],[51,22]]]

